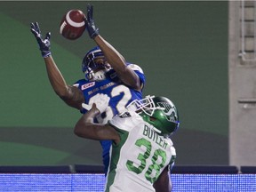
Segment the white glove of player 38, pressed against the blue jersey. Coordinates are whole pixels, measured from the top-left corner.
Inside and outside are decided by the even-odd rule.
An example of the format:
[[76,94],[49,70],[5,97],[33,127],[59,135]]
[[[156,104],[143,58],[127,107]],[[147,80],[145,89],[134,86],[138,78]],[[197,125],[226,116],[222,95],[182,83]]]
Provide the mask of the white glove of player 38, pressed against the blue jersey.
[[82,104],[82,107],[86,110],[90,110],[92,108],[92,103],[96,104],[96,108],[100,110],[100,114],[103,113],[108,108],[108,102],[110,98],[107,94],[98,93],[92,97],[90,103],[87,105],[85,103]]

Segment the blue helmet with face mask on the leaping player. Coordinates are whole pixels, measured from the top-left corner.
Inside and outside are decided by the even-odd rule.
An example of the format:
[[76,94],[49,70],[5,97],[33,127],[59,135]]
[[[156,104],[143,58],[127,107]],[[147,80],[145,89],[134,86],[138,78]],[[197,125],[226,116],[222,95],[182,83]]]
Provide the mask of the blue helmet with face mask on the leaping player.
[[[97,61],[99,59],[101,59],[100,62]],[[82,71],[86,80],[103,80],[106,78],[105,73],[110,68],[99,46],[94,47],[85,54],[82,62]]]

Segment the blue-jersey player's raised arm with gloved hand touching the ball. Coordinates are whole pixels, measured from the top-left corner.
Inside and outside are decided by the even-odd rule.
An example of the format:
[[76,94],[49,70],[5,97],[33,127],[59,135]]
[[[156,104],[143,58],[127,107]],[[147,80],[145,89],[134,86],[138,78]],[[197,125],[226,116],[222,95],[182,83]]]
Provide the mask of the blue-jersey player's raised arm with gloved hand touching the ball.
[[99,28],[96,28],[93,20],[93,6],[91,4],[87,5],[87,17],[85,23],[89,36],[100,46],[108,63],[115,69],[122,82],[135,90],[140,90],[141,84],[139,76],[137,76],[131,68],[127,68],[123,55],[100,36]]

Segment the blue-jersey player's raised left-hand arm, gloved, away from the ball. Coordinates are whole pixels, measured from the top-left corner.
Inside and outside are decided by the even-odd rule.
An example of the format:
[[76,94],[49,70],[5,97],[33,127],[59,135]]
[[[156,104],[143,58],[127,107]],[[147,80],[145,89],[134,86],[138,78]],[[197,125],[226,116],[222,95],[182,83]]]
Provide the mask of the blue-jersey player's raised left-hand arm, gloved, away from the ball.
[[42,37],[39,24],[37,22],[30,24],[31,32],[36,37],[37,44],[44,58],[48,78],[52,84],[52,88],[57,95],[60,96],[69,106],[73,108],[81,109],[81,104],[84,102],[83,92],[76,87],[66,84],[65,79],[60,73],[59,68],[52,58],[52,52],[50,51],[51,33],[48,32],[45,38]]

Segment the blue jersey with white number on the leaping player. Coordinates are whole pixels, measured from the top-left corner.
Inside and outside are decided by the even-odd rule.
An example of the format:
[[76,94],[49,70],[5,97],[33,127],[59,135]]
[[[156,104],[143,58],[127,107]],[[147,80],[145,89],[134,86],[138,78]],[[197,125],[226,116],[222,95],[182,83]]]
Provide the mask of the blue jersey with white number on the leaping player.
[[[145,76],[142,69],[134,64],[128,64],[128,67],[132,68],[140,77],[140,84],[143,86],[145,84]],[[108,76],[105,80],[87,81],[85,79],[80,79],[76,82],[76,87],[78,87],[84,93],[84,102],[86,104],[92,104],[93,96],[98,93],[107,94],[110,98],[106,112],[95,118],[95,122],[100,124],[107,124],[108,120],[110,120],[113,116],[122,113],[127,105],[132,102],[132,100],[142,99],[142,89],[141,91],[136,91],[121,83],[113,69],[108,72]],[[86,109],[83,109],[81,112],[85,113]],[[112,141],[100,140],[100,144],[103,149],[102,157],[106,173],[109,164],[109,149]]]

